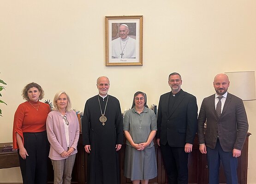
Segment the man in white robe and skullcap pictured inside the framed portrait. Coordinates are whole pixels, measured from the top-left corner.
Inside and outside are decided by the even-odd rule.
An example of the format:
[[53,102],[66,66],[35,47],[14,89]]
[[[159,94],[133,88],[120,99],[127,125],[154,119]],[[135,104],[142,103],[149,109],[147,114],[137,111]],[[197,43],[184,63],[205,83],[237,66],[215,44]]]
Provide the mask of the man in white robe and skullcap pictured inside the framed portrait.
[[136,35],[130,36],[129,33],[127,24],[119,26],[119,37],[112,40],[112,59],[136,58]]

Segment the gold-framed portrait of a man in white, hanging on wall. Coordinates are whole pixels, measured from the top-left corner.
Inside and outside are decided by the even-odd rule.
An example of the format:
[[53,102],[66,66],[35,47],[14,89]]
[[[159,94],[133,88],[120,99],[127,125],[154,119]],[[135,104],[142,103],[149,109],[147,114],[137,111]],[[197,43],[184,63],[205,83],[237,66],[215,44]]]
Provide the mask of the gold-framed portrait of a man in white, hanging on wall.
[[106,16],[106,66],[143,65],[143,16]]

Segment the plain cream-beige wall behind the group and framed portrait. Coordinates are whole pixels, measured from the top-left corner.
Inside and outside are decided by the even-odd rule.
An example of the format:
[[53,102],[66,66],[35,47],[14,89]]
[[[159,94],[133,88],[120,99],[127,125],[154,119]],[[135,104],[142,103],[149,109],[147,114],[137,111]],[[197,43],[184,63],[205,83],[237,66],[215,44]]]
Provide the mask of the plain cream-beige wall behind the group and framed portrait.
[[[104,17],[113,15],[143,15],[143,66],[105,66]],[[97,94],[96,78],[106,75],[109,94],[124,111],[137,90],[147,93],[148,104],[158,104],[170,90],[171,72],[182,75],[182,88],[200,107],[214,93],[215,74],[255,70],[255,0],[2,0],[0,78],[7,89],[1,99],[8,106],[0,104],[0,142],[12,141],[21,90],[32,81],[42,85],[44,100],[65,90],[73,108],[83,111]],[[244,104],[252,133],[248,184],[256,184],[256,101]],[[0,170],[0,182],[21,181],[18,168]]]

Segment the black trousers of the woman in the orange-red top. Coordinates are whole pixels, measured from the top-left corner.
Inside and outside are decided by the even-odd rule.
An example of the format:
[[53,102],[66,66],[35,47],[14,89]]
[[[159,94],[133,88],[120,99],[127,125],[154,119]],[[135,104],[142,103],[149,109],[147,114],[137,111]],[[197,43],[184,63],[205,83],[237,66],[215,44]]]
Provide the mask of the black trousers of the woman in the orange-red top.
[[49,142],[46,131],[23,135],[24,147],[29,155],[24,160],[18,150],[23,184],[47,184]]

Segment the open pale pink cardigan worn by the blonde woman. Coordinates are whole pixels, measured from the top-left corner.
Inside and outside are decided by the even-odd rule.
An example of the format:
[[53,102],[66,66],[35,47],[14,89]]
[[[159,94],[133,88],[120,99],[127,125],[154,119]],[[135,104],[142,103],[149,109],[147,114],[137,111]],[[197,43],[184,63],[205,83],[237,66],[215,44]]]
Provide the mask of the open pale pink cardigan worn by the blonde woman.
[[[73,154],[77,153],[77,143],[79,139],[79,123],[76,112],[66,112],[69,122],[69,146],[74,148]],[[47,137],[51,144],[49,158],[52,160],[63,160],[60,154],[67,151],[67,143],[65,137],[65,129],[63,117],[59,111],[52,111],[48,114],[46,120]]]

